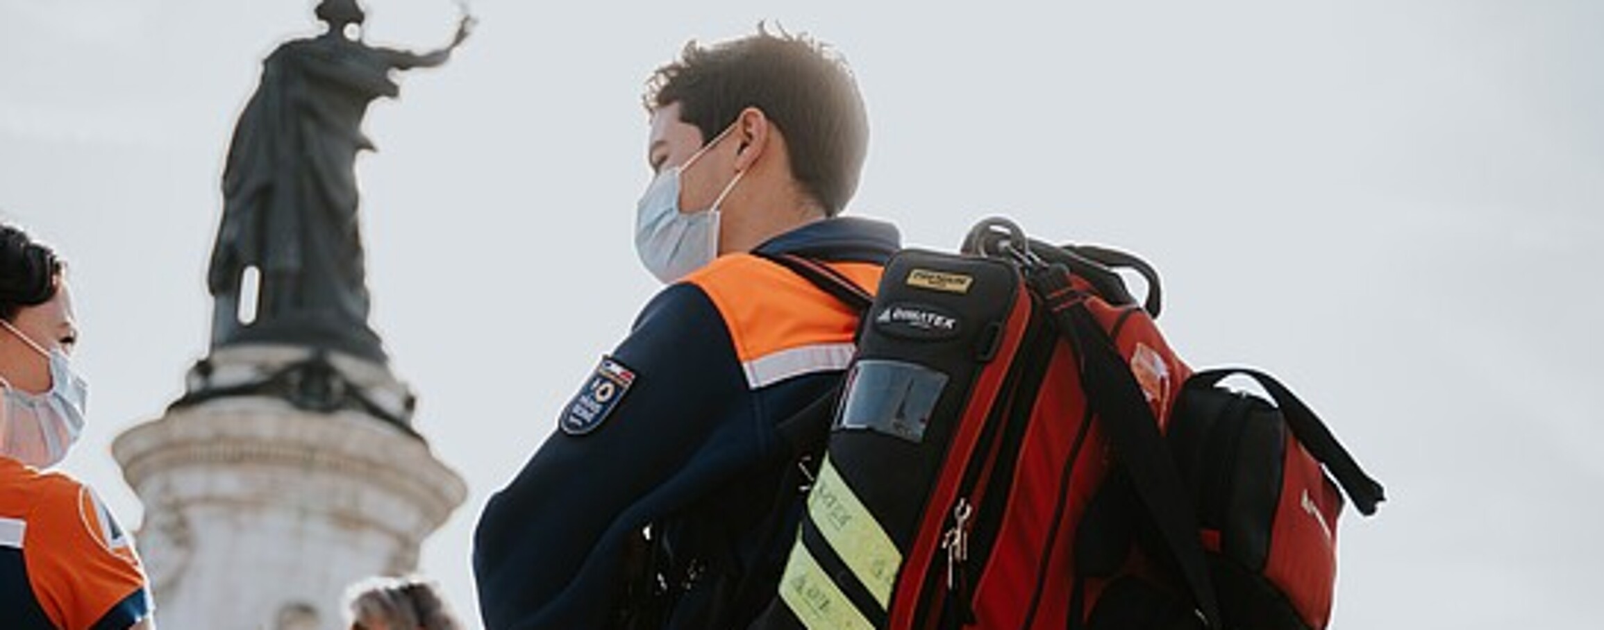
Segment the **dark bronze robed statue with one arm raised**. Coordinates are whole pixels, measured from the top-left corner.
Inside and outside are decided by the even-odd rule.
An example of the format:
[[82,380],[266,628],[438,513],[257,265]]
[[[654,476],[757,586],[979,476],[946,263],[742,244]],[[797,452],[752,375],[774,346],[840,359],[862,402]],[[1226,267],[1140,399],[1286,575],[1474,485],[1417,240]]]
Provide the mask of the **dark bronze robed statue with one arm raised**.
[[[212,348],[292,343],[383,362],[367,324],[354,162],[374,144],[363,115],[395,98],[391,71],[444,64],[473,26],[430,53],[366,45],[356,0],[324,0],[329,30],[290,40],[261,63],[261,83],[234,128],[223,172],[223,221],[207,277],[217,313]],[[258,277],[255,317],[239,301],[247,269]]]

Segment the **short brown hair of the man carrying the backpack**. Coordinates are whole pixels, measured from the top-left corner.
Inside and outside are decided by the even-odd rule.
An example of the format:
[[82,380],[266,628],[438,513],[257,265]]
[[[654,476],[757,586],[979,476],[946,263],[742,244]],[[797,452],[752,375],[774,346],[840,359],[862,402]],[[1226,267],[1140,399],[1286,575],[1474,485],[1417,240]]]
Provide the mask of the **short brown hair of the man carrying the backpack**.
[[680,104],[680,120],[703,139],[757,107],[786,136],[791,175],[824,212],[839,213],[858,189],[869,122],[847,63],[805,34],[770,32],[703,46],[691,40],[680,59],[646,83],[646,109]]

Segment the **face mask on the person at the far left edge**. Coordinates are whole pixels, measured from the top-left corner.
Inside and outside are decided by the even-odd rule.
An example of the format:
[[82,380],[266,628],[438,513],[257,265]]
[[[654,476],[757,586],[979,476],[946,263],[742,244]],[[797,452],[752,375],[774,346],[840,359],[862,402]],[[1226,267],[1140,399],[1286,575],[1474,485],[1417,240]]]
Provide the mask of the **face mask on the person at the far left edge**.
[[0,325],[50,361],[50,391],[30,394],[0,378],[5,388],[5,415],[0,415],[0,455],[34,468],[50,468],[67,457],[67,449],[83,433],[83,406],[88,385],[72,374],[61,349],[47,351],[21,330],[0,319]]

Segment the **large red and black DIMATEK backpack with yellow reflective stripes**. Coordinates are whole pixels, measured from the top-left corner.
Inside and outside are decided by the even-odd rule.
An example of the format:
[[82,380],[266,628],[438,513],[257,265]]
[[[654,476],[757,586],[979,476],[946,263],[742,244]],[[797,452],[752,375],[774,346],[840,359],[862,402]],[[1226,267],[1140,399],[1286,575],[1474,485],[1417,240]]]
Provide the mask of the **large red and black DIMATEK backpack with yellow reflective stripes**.
[[[1113,268],[1147,277],[1142,305]],[[781,428],[815,473],[752,627],[1323,628],[1343,507],[1327,473],[1365,515],[1381,486],[1274,378],[1193,374],[1158,305],[1140,260],[1006,220],[961,255],[898,253],[828,447]],[[1275,406],[1219,386],[1238,372]]]

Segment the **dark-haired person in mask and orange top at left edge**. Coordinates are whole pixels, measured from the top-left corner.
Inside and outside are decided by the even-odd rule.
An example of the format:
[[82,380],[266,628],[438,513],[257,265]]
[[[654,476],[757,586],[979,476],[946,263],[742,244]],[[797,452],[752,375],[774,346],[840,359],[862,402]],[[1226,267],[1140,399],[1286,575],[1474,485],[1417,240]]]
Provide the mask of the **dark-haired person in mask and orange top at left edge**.
[[154,628],[133,540],[88,486],[48,471],[88,393],[56,253],[0,224],[0,620],[6,630]]

